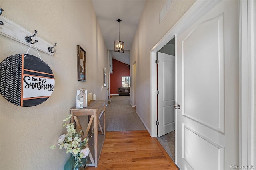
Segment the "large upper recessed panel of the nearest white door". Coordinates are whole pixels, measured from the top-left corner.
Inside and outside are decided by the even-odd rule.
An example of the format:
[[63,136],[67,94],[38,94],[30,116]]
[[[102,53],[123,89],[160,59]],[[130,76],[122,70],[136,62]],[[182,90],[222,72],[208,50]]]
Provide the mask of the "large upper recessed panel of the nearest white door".
[[[222,133],[224,133],[223,15],[222,13],[206,20],[188,32],[188,36],[182,41],[181,49],[184,62],[183,91],[186,90],[184,116]],[[198,39],[198,37],[206,38]],[[194,47],[200,47],[200,50],[194,50]]]

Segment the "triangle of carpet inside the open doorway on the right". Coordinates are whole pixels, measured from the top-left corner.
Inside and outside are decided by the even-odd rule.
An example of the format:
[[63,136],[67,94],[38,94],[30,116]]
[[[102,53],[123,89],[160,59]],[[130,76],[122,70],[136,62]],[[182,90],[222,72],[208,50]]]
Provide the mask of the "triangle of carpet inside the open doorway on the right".
[[157,137],[157,139],[173,162],[175,162],[175,131],[167,133],[161,137]]

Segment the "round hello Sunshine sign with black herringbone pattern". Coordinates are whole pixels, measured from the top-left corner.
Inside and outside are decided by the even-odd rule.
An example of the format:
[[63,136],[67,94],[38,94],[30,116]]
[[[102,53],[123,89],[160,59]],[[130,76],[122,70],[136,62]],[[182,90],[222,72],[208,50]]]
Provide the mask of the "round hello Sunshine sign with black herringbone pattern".
[[16,54],[0,63],[0,93],[17,106],[36,106],[54,90],[50,67],[34,55]]

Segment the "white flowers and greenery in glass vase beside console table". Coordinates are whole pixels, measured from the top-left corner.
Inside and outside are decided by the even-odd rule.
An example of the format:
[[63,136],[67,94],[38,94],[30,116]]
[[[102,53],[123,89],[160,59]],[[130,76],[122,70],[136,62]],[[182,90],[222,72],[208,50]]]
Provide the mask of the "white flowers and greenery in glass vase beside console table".
[[74,128],[75,123],[70,123],[70,119],[71,115],[68,115],[67,118],[63,120],[65,122],[63,127],[66,126],[68,133],[60,135],[60,137],[57,139],[57,144],[52,145],[50,149],[55,150],[56,145],[59,146],[59,149],[66,149],[66,153],[71,153],[74,157],[71,158],[74,160],[74,165],[71,165],[72,168],[79,168],[85,165],[84,163],[86,162],[86,156],[88,156],[90,152],[88,148],[89,138],[84,138],[84,140],[82,140],[82,131],[77,133],[76,129]]

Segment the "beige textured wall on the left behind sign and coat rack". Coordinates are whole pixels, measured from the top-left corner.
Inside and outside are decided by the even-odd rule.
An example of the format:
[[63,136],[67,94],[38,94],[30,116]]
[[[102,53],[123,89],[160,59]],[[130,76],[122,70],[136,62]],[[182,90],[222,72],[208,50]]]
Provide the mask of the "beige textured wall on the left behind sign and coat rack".
[[[89,0],[1,0],[2,16],[45,41],[57,43],[54,56],[39,52],[52,69],[55,88],[46,102],[19,107],[0,96],[0,169],[60,170],[70,156],[51,150],[65,129],[62,120],[75,106],[76,90],[86,88],[106,99],[103,67],[108,68],[106,46]],[[1,25],[4,27],[4,25]],[[76,45],[86,50],[87,82],[77,81]],[[28,46],[0,36],[0,61],[26,53]],[[38,57],[35,49],[29,54]]]

